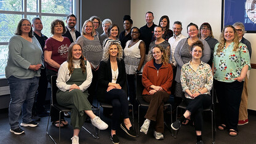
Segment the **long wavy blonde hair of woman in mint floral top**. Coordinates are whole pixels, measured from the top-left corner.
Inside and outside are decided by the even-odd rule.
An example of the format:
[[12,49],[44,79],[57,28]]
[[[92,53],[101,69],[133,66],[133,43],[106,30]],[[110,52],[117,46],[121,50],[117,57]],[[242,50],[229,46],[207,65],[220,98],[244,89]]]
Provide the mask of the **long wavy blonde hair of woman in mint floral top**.
[[234,47],[233,47],[233,51],[236,52],[239,49],[239,40],[238,40],[238,32],[236,31],[236,28],[234,28],[234,26],[232,25],[226,25],[223,29],[222,29],[222,34],[220,34],[220,44],[218,44],[218,49],[216,50],[217,54],[219,55],[220,52],[224,49],[225,44],[226,44],[226,39],[224,38],[224,34],[225,34],[225,30],[226,28],[232,28],[234,31]]

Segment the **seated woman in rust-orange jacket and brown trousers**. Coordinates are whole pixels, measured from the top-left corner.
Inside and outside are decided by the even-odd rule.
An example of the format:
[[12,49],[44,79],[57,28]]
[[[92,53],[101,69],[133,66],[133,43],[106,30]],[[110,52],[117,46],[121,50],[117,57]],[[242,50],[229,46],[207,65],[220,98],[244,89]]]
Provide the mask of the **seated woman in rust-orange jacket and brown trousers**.
[[172,66],[167,58],[166,50],[156,45],[150,51],[149,62],[143,68],[142,84],[145,89],[142,92],[143,99],[150,103],[140,132],[148,133],[150,121],[155,121],[154,137],[157,140],[164,139],[164,102],[169,99],[172,86]]

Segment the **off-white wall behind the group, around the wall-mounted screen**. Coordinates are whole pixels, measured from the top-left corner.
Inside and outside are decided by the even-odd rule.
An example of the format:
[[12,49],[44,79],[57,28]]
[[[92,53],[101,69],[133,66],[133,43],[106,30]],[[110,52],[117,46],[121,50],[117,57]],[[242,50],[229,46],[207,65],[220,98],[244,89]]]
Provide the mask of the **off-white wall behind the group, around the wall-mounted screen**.
[[[154,13],[154,23],[158,25],[159,18],[162,15],[168,15],[170,18],[170,28],[172,23],[178,20],[182,22],[182,33],[186,36],[186,26],[190,23],[196,23],[200,26],[204,22],[210,23],[214,37],[219,39],[222,22],[222,0],[130,0],[130,15],[134,20],[134,26],[140,28],[145,25],[145,13],[151,11]],[[252,44],[251,63],[256,63],[256,34],[245,34],[244,36]],[[256,110],[256,70],[250,71],[249,78],[249,102],[248,108]]]

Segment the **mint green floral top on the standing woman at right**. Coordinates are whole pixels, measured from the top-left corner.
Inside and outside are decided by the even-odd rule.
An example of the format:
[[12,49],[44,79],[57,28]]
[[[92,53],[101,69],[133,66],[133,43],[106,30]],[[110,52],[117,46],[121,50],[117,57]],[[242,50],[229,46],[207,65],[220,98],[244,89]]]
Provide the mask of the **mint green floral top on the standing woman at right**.
[[[219,43],[218,43],[219,44]],[[239,49],[234,52],[232,42],[228,47],[217,54],[218,44],[214,48],[214,79],[222,82],[233,82],[238,78],[242,68],[246,65],[250,70],[250,55],[245,44],[240,42]]]

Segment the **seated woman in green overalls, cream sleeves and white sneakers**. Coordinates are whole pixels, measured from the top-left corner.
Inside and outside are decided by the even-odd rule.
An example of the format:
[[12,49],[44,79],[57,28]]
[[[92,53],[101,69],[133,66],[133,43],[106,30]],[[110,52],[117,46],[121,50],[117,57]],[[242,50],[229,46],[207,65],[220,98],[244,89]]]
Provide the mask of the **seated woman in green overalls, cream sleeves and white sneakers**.
[[92,82],[92,69],[90,63],[84,60],[82,48],[77,43],[72,43],[68,48],[68,60],[58,70],[57,95],[59,105],[71,108],[71,125],[74,129],[72,143],[79,143],[78,134],[86,119],[90,117],[92,125],[100,130],[108,128],[98,116],[92,112],[87,100],[87,88]]

